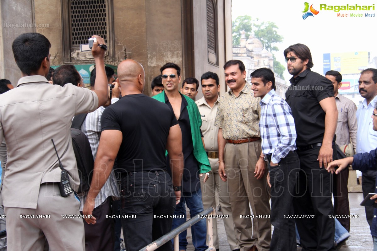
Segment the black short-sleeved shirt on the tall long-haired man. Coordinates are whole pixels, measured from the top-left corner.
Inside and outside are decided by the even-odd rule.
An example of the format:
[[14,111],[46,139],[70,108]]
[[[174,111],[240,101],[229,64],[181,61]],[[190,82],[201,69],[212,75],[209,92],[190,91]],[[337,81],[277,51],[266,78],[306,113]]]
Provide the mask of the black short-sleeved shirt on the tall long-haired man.
[[326,97],[334,97],[333,84],[310,69],[289,81],[291,85],[285,93],[285,101],[291,107],[296,125],[296,145],[302,147],[322,143],[326,113],[319,102]]

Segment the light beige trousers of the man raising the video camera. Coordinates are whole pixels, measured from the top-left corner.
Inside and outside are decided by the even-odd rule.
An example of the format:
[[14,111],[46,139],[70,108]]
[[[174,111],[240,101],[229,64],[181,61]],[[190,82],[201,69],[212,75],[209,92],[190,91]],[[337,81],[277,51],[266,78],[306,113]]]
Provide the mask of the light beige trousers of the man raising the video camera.
[[[84,251],[83,219],[61,216],[80,215],[79,209],[73,193],[62,197],[56,183],[41,184],[36,209],[5,207],[8,250],[43,250],[47,239],[51,251]],[[50,214],[51,218],[20,219],[20,214]]]

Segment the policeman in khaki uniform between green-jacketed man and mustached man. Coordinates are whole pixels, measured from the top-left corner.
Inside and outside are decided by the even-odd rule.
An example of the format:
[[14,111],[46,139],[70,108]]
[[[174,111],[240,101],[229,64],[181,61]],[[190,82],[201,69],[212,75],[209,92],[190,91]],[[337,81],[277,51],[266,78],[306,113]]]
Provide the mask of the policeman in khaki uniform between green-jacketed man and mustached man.
[[[219,176],[219,152],[217,144],[217,135],[219,128],[213,123],[216,119],[216,111],[219,104],[219,77],[216,73],[206,72],[201,77],[202,92],[204,97],[196,101],[198,105],[200,116],[202,118],[201,131],[204,136],[205,151],[208,154],[208,160],[211,164],[211,173],[206,183],[201,182],[202,187],[202,201],[204,208],[216,208],[215,195],[219,196],[221,212],[224,218],[225,233],[227,234],[228,243],[231,250],[238,249],[236,236],[234,234],[234,224],[230,208],[230,198],[228,183],[221,181]],[[201,175],[201,180],[204,180],[204,175]],[[207,227],[208,228],[208,227]],[[213,245],[219,249],[219,237],[217,234],[217,223],[213,221]]]

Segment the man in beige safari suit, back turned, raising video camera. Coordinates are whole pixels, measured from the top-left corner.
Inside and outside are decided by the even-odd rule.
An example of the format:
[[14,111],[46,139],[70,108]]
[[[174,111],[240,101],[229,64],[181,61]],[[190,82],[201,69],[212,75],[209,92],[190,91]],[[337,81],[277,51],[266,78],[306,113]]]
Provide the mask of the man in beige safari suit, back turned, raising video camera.
[[43,35],[23,33],[12,44],[22,78],[0,99],[0,142],[5,138],[8,151],[2,196],[9,250],[42,250],[46,239],[51,250],[84,250],[83,221],[73,218],[80,215],[80,202],[74,193],[60,192],[60,187],[63,170],[69,177],[63,185],[77,190],[80,184],[70,134],[72,118],[107,101],[105,43],[93,37],[97,38],[92,48],[97,68],[94,91],[49,84],[51,44]]

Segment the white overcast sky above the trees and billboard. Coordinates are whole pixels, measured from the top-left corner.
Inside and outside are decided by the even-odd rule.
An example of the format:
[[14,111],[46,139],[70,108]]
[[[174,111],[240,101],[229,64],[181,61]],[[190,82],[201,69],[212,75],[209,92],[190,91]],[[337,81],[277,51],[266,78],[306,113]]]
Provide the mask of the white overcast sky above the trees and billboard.
[[[276,44],[279,52],[274,52],[277,60],[284,66],[283,51],[291,44],[306,44],[311,50],[313,71],[323,74],[323,53],[371,52],[371,59],[377,51],[377,2],[372,0],[321,0],[309,2],[319,13],[303,20],[302,11],[305,0],[290,1],[245,1],[232,0],[232,20],[238,16],[250,15],[261,21],[273,21],[279,27],[278,33],[284,37],[282,43]],[[373,5],[375,11],[324,11],[320,4],[332,5]],[[310,11],[309,11],[310,12]],[[375,17],[337,17],[340,14],[374,14]],[[291,78],[285,70],[285,79]]]

